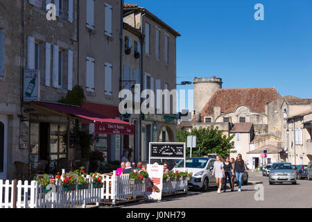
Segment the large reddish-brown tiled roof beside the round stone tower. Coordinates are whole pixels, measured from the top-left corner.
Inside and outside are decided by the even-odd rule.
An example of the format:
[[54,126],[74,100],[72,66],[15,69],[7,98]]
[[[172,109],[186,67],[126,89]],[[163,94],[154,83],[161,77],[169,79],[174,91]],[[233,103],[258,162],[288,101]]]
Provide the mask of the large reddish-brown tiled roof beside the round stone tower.
[[248,106],[253,112],[264,113],[268,101],[281,96],[275,88],[217,89],[201,110],[202,121],[207,114],[214,114],[220,106],[221,113],[233,112],[239,105]]

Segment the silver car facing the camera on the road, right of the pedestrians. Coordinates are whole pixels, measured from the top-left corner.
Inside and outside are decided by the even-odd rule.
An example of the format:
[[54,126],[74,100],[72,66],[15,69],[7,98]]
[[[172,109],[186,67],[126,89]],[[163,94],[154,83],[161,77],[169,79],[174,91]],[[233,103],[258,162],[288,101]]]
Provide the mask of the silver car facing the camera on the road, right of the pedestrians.
[[269,173],[269,183],[272,185],[275,182],[291,182],[297,184],[295,169],[290,162],[275,162],[272,164]]

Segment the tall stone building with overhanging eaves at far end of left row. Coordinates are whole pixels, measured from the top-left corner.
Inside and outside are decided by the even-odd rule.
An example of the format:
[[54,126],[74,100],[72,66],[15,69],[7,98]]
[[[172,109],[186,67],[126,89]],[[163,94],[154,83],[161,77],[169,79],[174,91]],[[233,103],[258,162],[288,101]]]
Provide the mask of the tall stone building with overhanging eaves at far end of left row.
[[[131,26],[134,30],[144,35],[144,42],[141,44],[141,74],[142,89],[168,89],[169,91],[176,89],[176,39],[180,36],[171,26],[164,23],[146,8],[133,4],[124,4],[123,22],[125,26]],[[128,33],[126,30],[125,33]],[[133,32],[132,32],[133,33]],[[130,33],[128,33],[130,35]],[[133,35],[134,39],[139,40],[139,36]],[[135,44],[131,44],[135,49]],[[132,57],[132,53],[129,55]],[[125,62],[128,62],[129,56],[123,56]],[[131,58],[134,59],[133,57]],[[130,73],[137,69],[135,64],[131,68]],[[126,65],[126,64],[125,64]],[[138,65],[138,64],[137,64]],[[135,77],[134,77],[135,79]],[[156,93],[155,93],[156,94]],[[155,96],[157,101],[157,96]],[[149,142],[174,142],[176,139],[177,119],[174,113],[176,101],[174,98],[170,101],[170,112],[164,114],[164,99],[162,101],[162,109],[157,102],[154,105],[155,114],[143,114],[142,117],[142,137],[141,149],[139,142],[134,139],[132,147],[135,159],[140,161],[148,161],[148,144]],[[158,113],[158,114],[157,114]],[[133,123],[138,124],[139,119],[133,115]],[[136,125],[138,129],[138,125]],[[136,130],[137,132],[137,130]]]

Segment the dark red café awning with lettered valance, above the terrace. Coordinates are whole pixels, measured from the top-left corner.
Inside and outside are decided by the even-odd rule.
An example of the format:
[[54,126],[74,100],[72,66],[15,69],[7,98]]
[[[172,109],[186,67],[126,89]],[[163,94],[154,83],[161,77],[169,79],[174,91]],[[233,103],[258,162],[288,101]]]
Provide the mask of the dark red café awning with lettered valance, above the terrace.
[[37,104],[44,105],[48,108],[58,110],[60,112],[67,112],[69,114],[73,114],[76,117],[95,121],[96,123],[94,133],[133,135],[135,132],[135,127],[133,123],[121,121],[119,119],[107,118],[101,114],[79,108],[78,106],[46,102],[37,102]]

